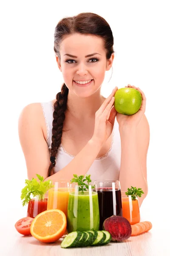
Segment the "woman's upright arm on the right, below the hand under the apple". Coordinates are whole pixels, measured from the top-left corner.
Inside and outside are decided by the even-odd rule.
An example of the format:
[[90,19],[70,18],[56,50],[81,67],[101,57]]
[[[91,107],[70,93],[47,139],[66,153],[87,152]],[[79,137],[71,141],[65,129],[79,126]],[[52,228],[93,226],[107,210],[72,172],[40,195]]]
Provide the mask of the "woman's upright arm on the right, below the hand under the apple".
[[119,181],[122,191],[136,186],[142,188],[144,194],[139,199],[139,206],[147,195],[147,150],[150,130],[147,118],[143,115],[137,128],[126,127],[119,130],[121,137],[121,166]]

